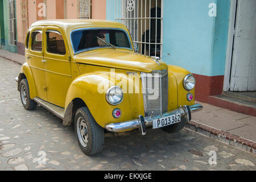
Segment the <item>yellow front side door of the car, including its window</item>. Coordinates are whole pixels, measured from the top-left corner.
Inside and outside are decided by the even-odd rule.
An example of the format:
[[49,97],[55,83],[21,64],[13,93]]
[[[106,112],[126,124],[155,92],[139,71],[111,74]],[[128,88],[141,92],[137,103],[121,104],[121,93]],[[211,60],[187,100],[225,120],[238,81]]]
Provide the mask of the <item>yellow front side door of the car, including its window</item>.
[[65,107],[65,97],[72,82],[67,40],[61,28],[47,26],[44,42],[47,101]]

